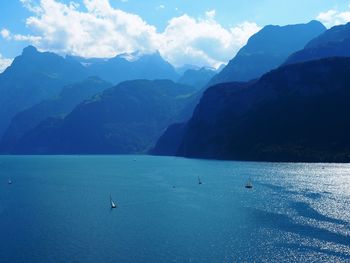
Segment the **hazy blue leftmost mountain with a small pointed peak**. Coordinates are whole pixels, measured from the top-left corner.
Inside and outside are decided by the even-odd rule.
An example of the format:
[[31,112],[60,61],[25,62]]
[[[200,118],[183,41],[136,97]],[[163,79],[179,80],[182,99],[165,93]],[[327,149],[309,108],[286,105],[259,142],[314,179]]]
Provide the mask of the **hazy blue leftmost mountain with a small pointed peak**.
[[25,48],[0,74],[0,137],[16,113],[88,76],[86,68],[75,60],[41,53],[33,46]]

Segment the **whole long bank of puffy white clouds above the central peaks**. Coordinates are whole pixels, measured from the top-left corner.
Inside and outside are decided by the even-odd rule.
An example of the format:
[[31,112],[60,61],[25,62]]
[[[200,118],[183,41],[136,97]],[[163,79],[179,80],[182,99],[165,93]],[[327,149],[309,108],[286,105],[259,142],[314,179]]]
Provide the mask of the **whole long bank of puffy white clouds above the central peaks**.
[[83,57],[107,58],[126,52],[159,50],[176,66],[189,63],[217,66],[231,59],[260,29],[249,22],[225,28],[216,21],[215,10],[210,10],[203,18],[186,14],[174,17],[163,32],[158,32],[140,16],[113,8],[108,0],[84,0],[84,8],[80,9],[75,2],[21,2],[33,14],[26,25],[35,34],[9,32],[8,38],[30,42],[40,50]]

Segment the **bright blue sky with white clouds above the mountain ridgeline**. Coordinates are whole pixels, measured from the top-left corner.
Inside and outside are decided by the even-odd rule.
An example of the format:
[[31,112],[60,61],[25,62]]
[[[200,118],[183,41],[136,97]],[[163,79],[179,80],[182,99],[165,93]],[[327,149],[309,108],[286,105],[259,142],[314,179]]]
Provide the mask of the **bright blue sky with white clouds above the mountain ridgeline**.
[[0,72],[34,45],[60,55],[160,54],[180,67],[218,67],[265,25],[350,21],[350,0],[0,1]]

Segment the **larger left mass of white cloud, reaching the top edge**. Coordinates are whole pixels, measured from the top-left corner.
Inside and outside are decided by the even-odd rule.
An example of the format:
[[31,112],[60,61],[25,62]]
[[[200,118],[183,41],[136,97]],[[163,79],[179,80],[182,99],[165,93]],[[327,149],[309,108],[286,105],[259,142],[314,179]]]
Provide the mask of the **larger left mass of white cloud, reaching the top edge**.
[[[139,16],[113,9],[107,0],[84,0],[86,11],[71,2],[41,0],[26,20],[36,36],[17,36],[41,50],[83,57],[112,57],[124,52],[149,52],[156,47],[156,28]],[[34,8],[33,6],[31,8]]]

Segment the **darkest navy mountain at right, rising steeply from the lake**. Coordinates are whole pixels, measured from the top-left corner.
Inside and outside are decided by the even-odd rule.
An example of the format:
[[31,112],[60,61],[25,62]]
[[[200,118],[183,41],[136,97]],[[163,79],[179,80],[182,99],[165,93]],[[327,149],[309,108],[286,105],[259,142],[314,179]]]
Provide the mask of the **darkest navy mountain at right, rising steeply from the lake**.
[[[209,88],[192,119],[155,153],[254,161],[350,161],[350,58],[281,67]],[[177,145],[173,135],[183,134]],[[163,147],[160,148],[160,147]],[[175,147],[175,148],[169,148]]]

